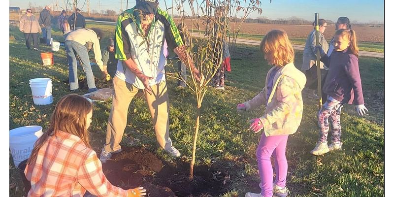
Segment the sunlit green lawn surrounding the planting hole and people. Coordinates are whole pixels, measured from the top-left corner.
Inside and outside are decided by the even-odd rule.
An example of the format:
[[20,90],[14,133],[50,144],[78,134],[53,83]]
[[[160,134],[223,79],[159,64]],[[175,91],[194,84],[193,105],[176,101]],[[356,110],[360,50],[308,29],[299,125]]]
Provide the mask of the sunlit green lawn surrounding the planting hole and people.
[[[88,27],[97,24],[88,24]],[[112,27],[112,26],[111,26]],[[101,41],[113,34],[113,28],[106,29]],[[112,32],[111,32],[112,31]],[[61,33],[55,35],[61,38]],[[63,82],[68,79],[68,67],[65,50],[54,52],[55,65],[42,66],[40,53],[50,51],[48,46],[39,46],[40,51],[27,50],[23,35],[10,28],[9,46],[9,129],[39,125],[48,127],[55,103],[69,94],[68,86]],[[300,67],[302,53],[296,52],[296,66]],[[324,156],[312,156],[309,151],[318,138],[316,114],[317,101],[304,99],[304,112],[298,131],[289,137],[287,159],[289,170],[287,186],[290,197],[383,197],[385,190],[385,142],[384,142],[384,59],[360,57],[360,71],[367,115],[356,116],[353,106],[345,105],[342,110],[343,151],[330,152]],[[200,135],[197,142],[197,165],[211,164],[215,161],[228,160],[244,166],[229,181],[232,191],[223,197],[243,197],[249,191],[244,175],[255,177],[259,182],[255,149],[260,134],[247,130],[248,121],[260,117],[264,106],[237,114],[235,106],[239,102],[253,98],[264,86],[264,77],[270,68],[263,60],[257,46],[238,45],[231,56],[232,72],[226,79],[226,90],[210,88],[202,106]],[[93,67],[95,76],[99,69]],[[79,69],[78,76],[84,79],[84,72]],[[53,83],[54,102],[50,105],[33,104],[29,79],[48,77]],[[175,90],[176,82],[168,79],[170,100],[170,136],[174,146],[179,148],[183,159],[190,159],[192,136],[195,121],[195,98],[189,89]],[[96,84],[98,87],[101,84]],[[90,128],[92,145],[96,152],[101,150],[105,141],[105,130],[111,107],[111,101],[97,103]],[[136,97],[129,108],[128,125],[123,146],[128,146],[131,139],[139,139],[138,145],[156,152],[164,160],[172,161],[159,150],[151,125],[149,110],[141,97]],[[9,162],[10,196],[21,197],[23,184],[15,169],[12,159]],[[256,192],[256,191],[255,191]]]

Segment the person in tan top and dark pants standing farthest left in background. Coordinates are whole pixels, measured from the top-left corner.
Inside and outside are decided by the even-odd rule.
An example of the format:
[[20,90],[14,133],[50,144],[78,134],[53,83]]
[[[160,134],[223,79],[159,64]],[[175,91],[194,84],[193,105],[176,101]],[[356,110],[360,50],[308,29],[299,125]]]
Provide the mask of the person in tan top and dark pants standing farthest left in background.
[[32,9],[26,9],[26,15],[21,17],[19,31],[25,34],[26,47],[31,49],[31,42],[33,40],[33,50],[37,51],[38,33],[41,33],[41,28],[38,20],[32,14]]

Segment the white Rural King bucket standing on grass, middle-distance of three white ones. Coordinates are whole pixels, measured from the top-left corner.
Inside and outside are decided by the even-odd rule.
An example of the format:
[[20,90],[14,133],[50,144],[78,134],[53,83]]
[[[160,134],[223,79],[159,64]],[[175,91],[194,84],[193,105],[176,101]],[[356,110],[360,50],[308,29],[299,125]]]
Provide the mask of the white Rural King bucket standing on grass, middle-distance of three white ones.
[[52,79],[35,78],[29,80],[32,88],[33,102],[36,105],[46,105],[53,102]]

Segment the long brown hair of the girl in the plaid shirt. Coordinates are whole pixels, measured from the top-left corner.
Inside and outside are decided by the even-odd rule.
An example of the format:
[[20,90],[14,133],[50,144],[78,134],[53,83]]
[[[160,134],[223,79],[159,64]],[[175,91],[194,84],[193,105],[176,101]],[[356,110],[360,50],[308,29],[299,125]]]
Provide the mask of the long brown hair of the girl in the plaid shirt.
[[70,94],[62,97],[52,113],[48,130],[35,142],[28,164],[35,162],[39,149],[50,136],[56,135],[58,131],[78,136],[87,147],[91,148],[86,117],[92,110],[92,103],[82,96]]

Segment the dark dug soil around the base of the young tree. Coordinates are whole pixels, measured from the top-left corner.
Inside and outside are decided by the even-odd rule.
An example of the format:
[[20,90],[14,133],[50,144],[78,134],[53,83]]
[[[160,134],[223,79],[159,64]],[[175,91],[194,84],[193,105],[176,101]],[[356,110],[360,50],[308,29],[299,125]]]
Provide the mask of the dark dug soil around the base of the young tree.
[[240,170],[237,165],[220,162],[210,167],[195,165],[194,179],[189,181],[190,166],[186,162],[176,160],[170,164],[142,147],[122,149],[103,164],[104,174],[123,189],[144,187],[149,197],[220,196],[230,188],[230,172]]

